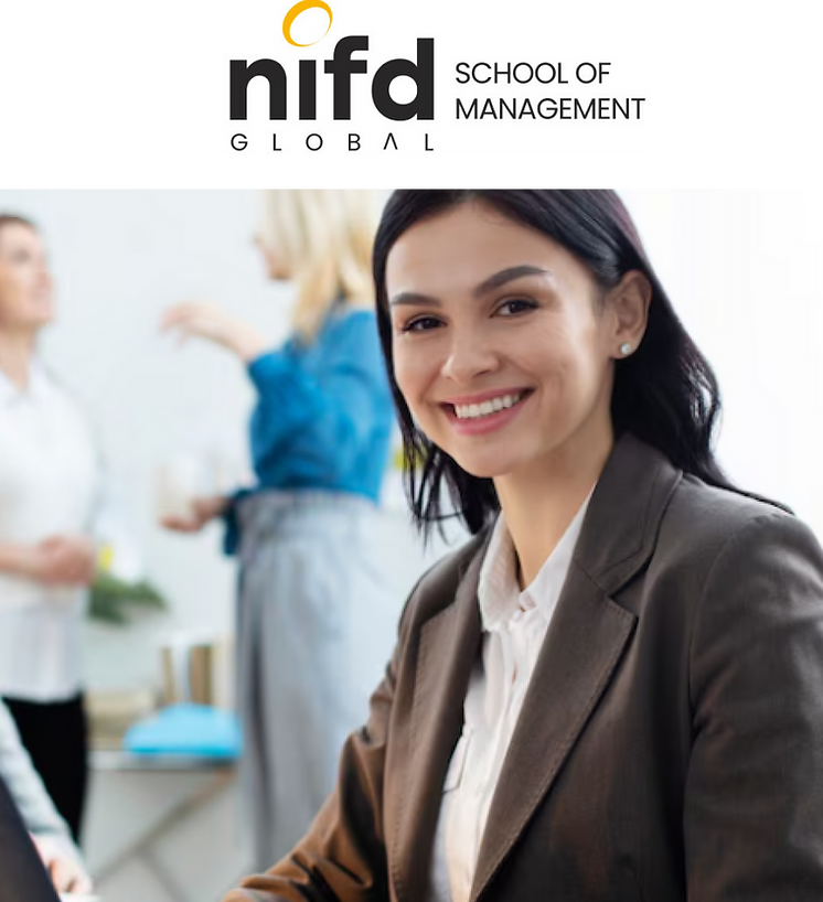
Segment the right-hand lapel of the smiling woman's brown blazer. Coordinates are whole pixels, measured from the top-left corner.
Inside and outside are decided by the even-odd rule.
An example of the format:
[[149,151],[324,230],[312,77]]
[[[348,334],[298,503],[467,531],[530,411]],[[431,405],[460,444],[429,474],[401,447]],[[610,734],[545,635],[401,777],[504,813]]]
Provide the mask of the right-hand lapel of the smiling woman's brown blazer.
[[651,556],[678,479],[659,452],[631,436],[620,439],[603,469],[492,798],[472,902],[551,792],[608,688],[637,621],[610,595]]

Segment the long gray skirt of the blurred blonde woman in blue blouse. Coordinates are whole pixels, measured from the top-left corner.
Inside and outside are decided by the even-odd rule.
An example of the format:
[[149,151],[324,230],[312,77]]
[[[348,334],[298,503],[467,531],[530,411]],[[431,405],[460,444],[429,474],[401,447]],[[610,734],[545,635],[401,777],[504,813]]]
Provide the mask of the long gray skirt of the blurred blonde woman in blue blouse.
[[239,503],[241,787],[258,870],[311,825],[392,655],[399,611],[376,562],[380,516],[332,492]]

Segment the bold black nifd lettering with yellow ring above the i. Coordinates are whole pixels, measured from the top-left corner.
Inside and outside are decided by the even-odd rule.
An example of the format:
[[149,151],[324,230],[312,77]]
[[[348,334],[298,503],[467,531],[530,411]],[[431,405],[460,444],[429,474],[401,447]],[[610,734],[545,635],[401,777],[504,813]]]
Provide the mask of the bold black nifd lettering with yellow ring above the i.
[[[292,36],[292,25],[307,10],[319,9],[329,15],[329,24],[314,41],[298,43]],[[300,0],[286,13],[282,35],[295,47],[307,47],[321,41],[332,24],[331,7],[323,0]],[[323,73],[331,75],[334,119],[351,119],[352,76],[367,75],[368,61],[354,58],[354,54],[368,50],[368,37],[349,35],[341,37],[334,46],[331,58],[323,61]],[[293,80],[293,72],[287,77],[284,65],[277,60],[229,61],[229,106],[232,119],[247,119],[248,84],[253,78],[263,77],[269,85],[269,119],[286,119],[288,112],[287,83]],[[406,103],[395,100],[391,95],[395,78],[407,76],[416,85],[413,99]],[[317,119],[318,73],[317,61],[298,61],[298,117]],[[360,80],[360,79],[357,79]],[[387,119],[405,121],[434,119],[435,117],[435,41],[432,37],[417,39],[417,58],[388,60],[372,77],[372,101],[378,112]]]

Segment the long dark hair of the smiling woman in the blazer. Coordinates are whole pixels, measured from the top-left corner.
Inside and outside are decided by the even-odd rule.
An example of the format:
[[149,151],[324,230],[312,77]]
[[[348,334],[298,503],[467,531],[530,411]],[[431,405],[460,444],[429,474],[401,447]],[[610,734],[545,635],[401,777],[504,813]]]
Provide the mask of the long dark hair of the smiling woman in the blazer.
[[614,434],[631,432],[684,472],[740,491],[728,481],[712,451],[720,412],[715,374],[677,319],[629,212],[612,187],[397,187],[375,237],[374,278],[381,342],[403,433],[406,493],[418,527],[428,534],[432,523],[445,518],[443,479],[457,516],[472,534],[500,509],[490,479],[467,473],[416,428],[394,377],[392,356],[385,284],[388,251],[415,223],[470,200],[491,204],[511,219],[549,236],[585,264],[606,290],[629,270],[640,270],[649,279],[652,299],[645,336],[630,357],[616,362]]

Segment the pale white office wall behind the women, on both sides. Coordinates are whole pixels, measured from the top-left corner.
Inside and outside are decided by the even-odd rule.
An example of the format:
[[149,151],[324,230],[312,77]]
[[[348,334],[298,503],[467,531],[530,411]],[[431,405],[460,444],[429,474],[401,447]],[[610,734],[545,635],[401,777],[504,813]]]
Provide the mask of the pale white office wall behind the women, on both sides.
[[[619,191],[716,368],[723,462],[823,535],[823,190]],[[157,528],[152,486],[158,464],[182,449],[216,443],[242,458],[252,402],[236,361],[196,342],[172,347],[158,336],[158,319],[170,303],[207,298],[274,341],[285,334],[290,294],[265,279],[252,244],[253,187],[0,187],[0,211],[33,217],[46,237],[61,304],[47,356],[94,410],[150,575],[173,602],[169,618],[89,630],[93,685],[136,685],[156,676],[157,634],[231,627],[234,568],[218,554],[217,527],[193,538]],[[403,593],[423,561],[403,515],[386,536]]]

